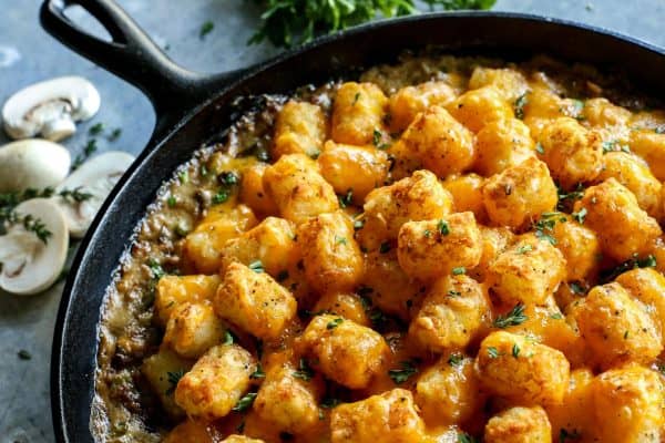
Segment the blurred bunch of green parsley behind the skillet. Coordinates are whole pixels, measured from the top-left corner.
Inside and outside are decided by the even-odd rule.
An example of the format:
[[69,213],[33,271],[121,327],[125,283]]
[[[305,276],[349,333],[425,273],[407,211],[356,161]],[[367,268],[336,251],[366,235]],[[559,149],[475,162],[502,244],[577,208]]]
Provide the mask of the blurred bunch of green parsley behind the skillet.
[[[256,0],[265,8],[249,44],[288,48],[375,19],[418,13],[413,0]],[[490,9],[497,0],[423,0],[430,10]]]

